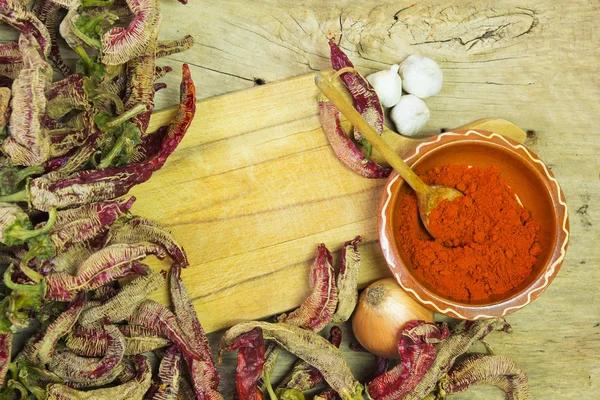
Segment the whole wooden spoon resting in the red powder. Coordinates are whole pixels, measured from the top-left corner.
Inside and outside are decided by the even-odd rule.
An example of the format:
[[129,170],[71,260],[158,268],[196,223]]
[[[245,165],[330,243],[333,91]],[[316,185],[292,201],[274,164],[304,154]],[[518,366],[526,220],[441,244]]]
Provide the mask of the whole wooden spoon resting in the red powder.
[[410,169],[402,157],[400,157],[398,153],[396,153],[379,136],[379,134],[375,132],[362,115],[346,101],[344,95],[333,86],[333,83],[329,79],[321,74],[317,74],[315,76],[315,84],[333,105],[348,118],[348,121],[362,133],[369,143],[371,143],[373,149],[377,150],[390,166],[398,172],[402,179],[413,188],[417,195],[419,215],[421,216],[423,225],[425,225],[425,228],[429,231],[429,214],[431,211],[436,208],[442,200],[452,201],[463,194],[456,189],[446,186],[427,185],[412,169]]

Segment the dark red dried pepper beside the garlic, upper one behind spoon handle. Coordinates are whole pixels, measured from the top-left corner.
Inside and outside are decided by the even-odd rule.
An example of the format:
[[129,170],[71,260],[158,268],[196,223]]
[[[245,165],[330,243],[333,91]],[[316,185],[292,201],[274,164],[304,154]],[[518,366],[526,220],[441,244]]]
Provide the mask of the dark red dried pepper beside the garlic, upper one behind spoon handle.
[[[329,48],[333,69],[336,71],[343,70],[344,68],[354,69],[354,65],[350,62],[348,56],[344,54],[332,39],[329,40]],[[356,70],[343,72],[340,78],[344,81],[344,84],[350,91],[350,95],[354,99],[354,108],[356,108],[356,111],[381,135],[384,126],[383,108],[375,89]],[[359,141],[362,139],[362,135],[357,129],[354,129],[354,137]],[[364,140],[361,143],[366,145],[367,151],[370,152],[370,144]]]

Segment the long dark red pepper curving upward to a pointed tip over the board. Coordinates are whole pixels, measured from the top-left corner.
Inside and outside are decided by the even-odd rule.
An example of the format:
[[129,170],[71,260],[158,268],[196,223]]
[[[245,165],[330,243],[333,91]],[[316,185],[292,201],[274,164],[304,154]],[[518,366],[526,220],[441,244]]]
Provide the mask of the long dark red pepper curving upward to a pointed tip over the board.
[[194,83],[187,64],[183,64],[181,104],[159,152],[149,160],[121,168],[79,171],[65,176],[50,172],[31,180],[28,190],[0,197],[0,201],[29,201],[38,210],[51,207],[66,208],[103,201],[126,194],[133,186],[147,181],[152,173],[162,168],[169,155],[183,139],[196,109]]

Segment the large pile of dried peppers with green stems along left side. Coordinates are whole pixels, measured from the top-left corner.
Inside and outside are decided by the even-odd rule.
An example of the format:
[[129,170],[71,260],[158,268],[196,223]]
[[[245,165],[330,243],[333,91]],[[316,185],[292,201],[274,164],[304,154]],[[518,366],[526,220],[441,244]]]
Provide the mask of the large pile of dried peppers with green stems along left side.
[[[0,20],[20,32],[0,44],[0,398],[221,399],[180,276],[185,252],[131,215],[126,196],[194,117],[184,64],[177,115],[148,132],[165,86],[156,80],[171,71],[155,61],[193,38],[158,40],[157,0],[27,3],[0,0]],[[76,65],[62,59],[59,36]],[[168,256],[170,272],[153,272],[150,255]],[[147,299],[167,281],[172,309]],[[11,358],[13,334],[30,325],[36,333]],[[155,374],[150,351],[160,355]]]

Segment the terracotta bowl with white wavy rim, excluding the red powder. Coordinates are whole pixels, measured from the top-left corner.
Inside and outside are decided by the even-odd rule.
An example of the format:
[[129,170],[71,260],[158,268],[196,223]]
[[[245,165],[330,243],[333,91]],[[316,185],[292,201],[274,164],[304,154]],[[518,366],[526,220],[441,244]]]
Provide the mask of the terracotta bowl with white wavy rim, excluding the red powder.
[[487,168],[496,165],[523,206],[541,224],[538,256],[531,275],[518,287],[487,302],[464,303],[444,298],[413,275],[412,265],[396,236],[395,210],[408,185],[393,172],[379,206],[379,239],[387,263],[400,285],[425,307],[460,319],[508,315],[531,303],[552,282],[567,251],[569,218],[565,196],[548,167],[523,145],[486,131],[446,132],[423,142],[404,156],[417,174],[433,166],[468,164]]

